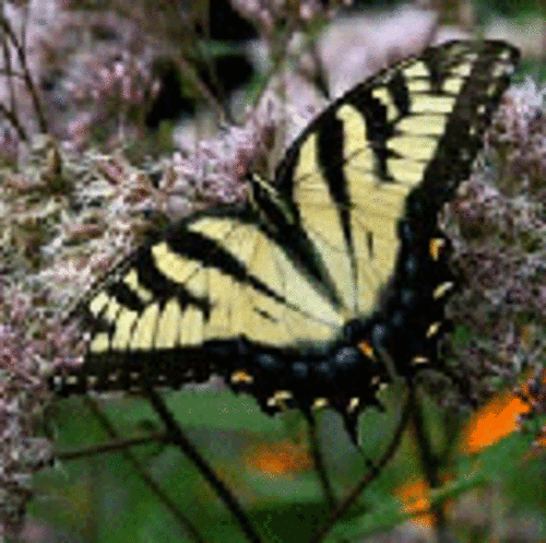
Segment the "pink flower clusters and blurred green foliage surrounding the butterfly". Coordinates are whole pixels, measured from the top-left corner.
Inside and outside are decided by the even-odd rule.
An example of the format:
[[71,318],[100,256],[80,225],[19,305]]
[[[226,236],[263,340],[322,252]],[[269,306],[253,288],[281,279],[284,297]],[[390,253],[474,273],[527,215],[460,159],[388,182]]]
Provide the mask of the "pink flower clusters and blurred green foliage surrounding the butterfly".
[[[544,541],[546,34],[535,2],[1,9],[8,541]],[[271,176],[333,96],[462,36],[523,54],[487,152],[442,217],[462,284],[447,356],[464,401],[438,376],[410,392],[393,385],[384,412],[360,416],[355,448],[335,413],[313,427],[297,412],[271,418],[214,379],[153,406],[52,398],[48,377],[81,353],[61,317],[95,278],[151,231],[244,200],[248,172]]]

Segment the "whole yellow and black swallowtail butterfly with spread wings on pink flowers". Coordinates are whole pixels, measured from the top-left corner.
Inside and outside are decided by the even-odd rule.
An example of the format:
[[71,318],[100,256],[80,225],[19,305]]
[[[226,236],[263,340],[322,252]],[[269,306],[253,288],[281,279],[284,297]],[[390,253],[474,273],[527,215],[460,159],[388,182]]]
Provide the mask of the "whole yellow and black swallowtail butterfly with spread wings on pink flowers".
[[452,42],[366,80],[238,208],[161,233],[76,307],[90,337],[62,393],[224,376],[273,413],[349,432],[392,374],[437,362],[453,290],[438,212],[471,173],[518,52]]

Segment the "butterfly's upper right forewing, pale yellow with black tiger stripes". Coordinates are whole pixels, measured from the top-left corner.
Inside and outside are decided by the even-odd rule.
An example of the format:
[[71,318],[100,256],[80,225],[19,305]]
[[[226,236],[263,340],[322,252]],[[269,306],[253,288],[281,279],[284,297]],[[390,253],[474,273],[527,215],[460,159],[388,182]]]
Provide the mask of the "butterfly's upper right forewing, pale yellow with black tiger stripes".
[[514,55],[491,42],[428,49],[351,91],[290,149],[283,193],[353,315],[389,284],[407,194],[422,186],[435,213],[468,176]]

